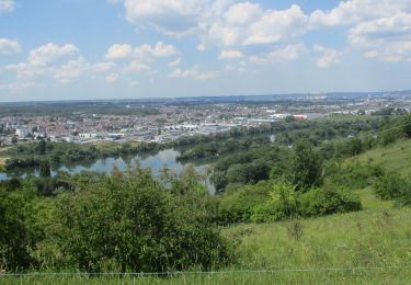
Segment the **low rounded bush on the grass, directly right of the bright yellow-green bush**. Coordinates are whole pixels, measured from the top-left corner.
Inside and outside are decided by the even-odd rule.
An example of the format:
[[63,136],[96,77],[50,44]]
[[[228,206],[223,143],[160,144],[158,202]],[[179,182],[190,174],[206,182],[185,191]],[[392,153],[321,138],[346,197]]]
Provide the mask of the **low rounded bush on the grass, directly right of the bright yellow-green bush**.
[[318,217],[361,209],[359,197],[341,186],[327,185],[312,189],[299,196],[299,214],[302,217]]

